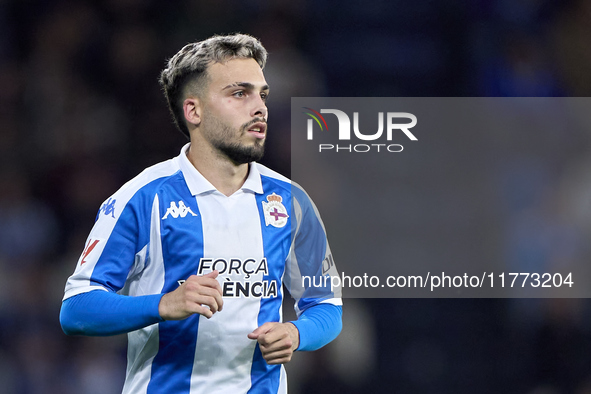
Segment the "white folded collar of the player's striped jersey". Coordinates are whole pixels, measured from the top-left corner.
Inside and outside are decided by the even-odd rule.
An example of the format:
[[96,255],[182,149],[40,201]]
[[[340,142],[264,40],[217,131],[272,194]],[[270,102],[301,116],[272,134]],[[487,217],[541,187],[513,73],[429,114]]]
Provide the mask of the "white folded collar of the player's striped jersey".
[[[183,146],[181,149],[181,154],[177,157],[177,159],[191,194],[196,196],[206,192],[217,191],[215,186],[205,179],[205,177],[201,175],[201,173],[197,171],[197,169],[189,161],[189,158],[187,157],[187,150],[189,149],[189,146],[191,146],[191,143]],[[263,182],[261,181],[261,174],[259,173],[256,163],[253,161],[248,165],[248,167],[248,177],[240,189],[243,191],[251,191],[259,194],[263,193]]]

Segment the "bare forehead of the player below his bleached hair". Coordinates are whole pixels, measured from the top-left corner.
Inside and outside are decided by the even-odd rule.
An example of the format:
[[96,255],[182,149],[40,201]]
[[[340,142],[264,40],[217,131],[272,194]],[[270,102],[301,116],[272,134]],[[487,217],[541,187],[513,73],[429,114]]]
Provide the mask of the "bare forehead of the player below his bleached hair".
[[213,63],[207,73],[211,85],[224,88],[232,84],[249,83],[255,87],[267,84],[263,70],[252,58],[230,59],[223,63]]

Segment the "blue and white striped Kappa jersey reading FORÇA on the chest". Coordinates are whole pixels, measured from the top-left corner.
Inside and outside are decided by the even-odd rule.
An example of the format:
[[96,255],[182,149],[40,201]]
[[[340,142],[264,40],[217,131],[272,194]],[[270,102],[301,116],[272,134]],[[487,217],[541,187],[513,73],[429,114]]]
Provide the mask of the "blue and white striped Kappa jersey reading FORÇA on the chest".
[[318,212],[289,179],[257,163],[225,196],[189,162],[187,144],[102,205],[64,299],[92,290],[168,293],[191,275],[220,271],[224,309],[128,333],[124,393],[285,393],[247,334],[279,322],[284,283],[299,316],[341,305],[340,289],[305,289],[302,276],[336,275]]

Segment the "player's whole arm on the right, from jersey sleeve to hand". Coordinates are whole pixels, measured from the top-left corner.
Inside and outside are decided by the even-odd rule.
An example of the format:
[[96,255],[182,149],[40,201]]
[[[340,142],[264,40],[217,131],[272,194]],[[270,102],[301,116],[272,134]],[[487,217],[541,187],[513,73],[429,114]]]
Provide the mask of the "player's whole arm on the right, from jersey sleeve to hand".
[[[314,287],[311,278],[338,275],[324,225],[314,203],[299,185],[292,184],[290,217],[292,248],[286,261],[284,283],[296,299],[298,319],[268,322],[248,334],[256,340],[268,364],[289,362],[296,350],[316,350],[335,339],[342,329],[340,288],[331,282]],[[295,275],[294,275],[295,274]],[[308,278],[308,287],[304,286]],[[322,283],[322,280],[319,281]]]

